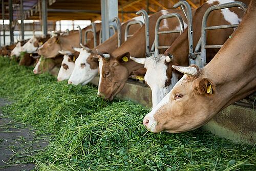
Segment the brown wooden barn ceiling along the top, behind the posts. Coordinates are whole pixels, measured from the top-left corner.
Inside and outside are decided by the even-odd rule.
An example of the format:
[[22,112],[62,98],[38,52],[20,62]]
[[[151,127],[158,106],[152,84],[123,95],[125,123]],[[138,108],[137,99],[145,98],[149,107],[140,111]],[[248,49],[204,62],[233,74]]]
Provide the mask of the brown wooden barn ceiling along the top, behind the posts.
[[[5,4],[5,19],[9,18],[8,0]],[[137,16],[136,11],[145,9],[149,13],[171,9],[179,0],[118,0],[119,18],[122,21]],[[197,8],[205,0],[187,0]],[[40,0],[23,0],[25,19],[40,19]],[[48,20],[100,20],[100,0],[48,0]],[[2,14],[2,2],[0,12]],[[13,19],[20,17],[20,0],[13,0]],[[0,16],[2,19],[2,15]]]

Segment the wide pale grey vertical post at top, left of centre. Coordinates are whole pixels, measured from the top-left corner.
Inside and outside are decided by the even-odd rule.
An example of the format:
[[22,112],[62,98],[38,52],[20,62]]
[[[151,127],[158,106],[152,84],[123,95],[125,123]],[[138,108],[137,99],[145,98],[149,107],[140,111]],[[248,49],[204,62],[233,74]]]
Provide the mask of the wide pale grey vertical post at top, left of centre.
[[[100,0],[101,7],[101,27],[102,42],[110,37],[110,22],[114,17],[118,17],[118,1],[117,0]],[[115,25],[115,24],[113,24]]]

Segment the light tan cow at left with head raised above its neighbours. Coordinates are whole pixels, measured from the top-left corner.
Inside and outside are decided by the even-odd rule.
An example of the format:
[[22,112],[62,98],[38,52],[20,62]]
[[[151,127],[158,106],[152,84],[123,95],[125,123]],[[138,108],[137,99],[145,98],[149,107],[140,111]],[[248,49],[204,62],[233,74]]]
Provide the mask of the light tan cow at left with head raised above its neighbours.
[[[101,28],[101,23],[96,23],[95,26],[97,32],[97,42],[99,42],[99,31]],[[84,32],[91,28],[92,26],[88,26],[82,29],[82,37],[84,37]],[[90,38],[91,40],[94,39],[91,32],[88,33],[88,38]],[[47,42],[45,42],[44,45],[38,48],[38,54],[46,58],[52,58],[59,54],[58,51],[60,50],[70,51],[73,53],[75,51],[72,49],[72,47],[79,47],[79,44],[79,32],[77,30],[72,30],[69,32],[68,35],[56,34],[53,37],[51,37]],[[89,48],[93,48],[93,41],[90,41],[90,43],[87,46]]]

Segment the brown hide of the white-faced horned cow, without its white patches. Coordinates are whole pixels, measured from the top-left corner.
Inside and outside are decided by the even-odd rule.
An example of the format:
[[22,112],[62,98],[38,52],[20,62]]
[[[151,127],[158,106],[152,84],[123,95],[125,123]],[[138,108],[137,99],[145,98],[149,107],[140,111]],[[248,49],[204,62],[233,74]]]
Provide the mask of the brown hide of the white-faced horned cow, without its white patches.
[[[242,1],[244,3],[248,3],[248,1]],[[199,7],[195,15],[193,17],[193,46],[194,49],[197,45],[199,38],[201,37],[201,26],[202,19],[205,11],[212,5],[216,5],[218,2],[214,2],[213,4],[204,3],[201,7]],[[247,4],[248,5],[248,4]],[[238,8],[230,8],[230,11],[236,12],[239,18],[242,18],[244,12]],[[221,13],[221,10],[216,10],[210,13],[207,26],[216,26],[216,25],[227,25],[229,24],[224,20],[224,17]],[[228,37],[232,34],[234,30],[231,29],[218,29],[218,30],[210,30],[206,32],[206,42],[207,45],[223,45],[224,42],[228,39]],[[219,49],[207,49],[207,62],[209,62],[219,51]],[[180,74],[180,77],[183,75],[172,68],[172,65],[178,66],[188,66],[188,37],[187,37],[187,29],[174,41],[172,46],[167,49],[164,55],[167,53],[172,54],[174,59],[170,62],[166,62],[168,66],[166,70],[167,81],[170,84],[170,80],[172,79],[172,73]],[[166,85],[168,86],[168,85]]]

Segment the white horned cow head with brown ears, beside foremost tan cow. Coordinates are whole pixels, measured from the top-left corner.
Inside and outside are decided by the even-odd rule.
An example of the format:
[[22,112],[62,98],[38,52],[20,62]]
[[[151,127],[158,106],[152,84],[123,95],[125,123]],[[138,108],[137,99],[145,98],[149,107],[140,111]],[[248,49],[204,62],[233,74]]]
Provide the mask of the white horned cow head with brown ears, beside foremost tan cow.
[[[154,108],[164,96],[172,90],[174,84],[178,82],[178,74],[170,73],[169,77],[166,74],[167,65],[166,62],[172,60],[172,56],[159,55],[158,57],[149,58],[135,58],[130,57],[137,63],[144,65],[145,70],[134,71],[135,75],[144,75],[145,82],[151,88],[152,91],[152,107]],[[144,71],[144,73],[141,73]]]

